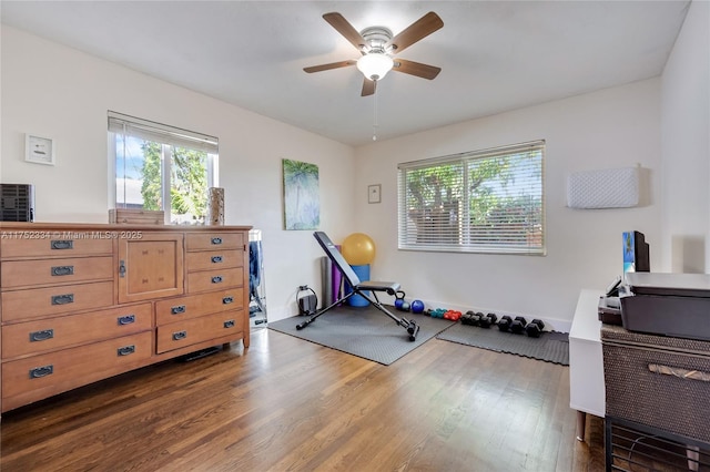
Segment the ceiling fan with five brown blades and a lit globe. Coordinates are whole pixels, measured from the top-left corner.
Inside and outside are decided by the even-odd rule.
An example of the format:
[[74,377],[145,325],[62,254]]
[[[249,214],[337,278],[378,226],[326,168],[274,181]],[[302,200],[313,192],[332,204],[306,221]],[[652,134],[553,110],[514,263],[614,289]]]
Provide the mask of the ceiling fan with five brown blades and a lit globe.
[[358,32],[341,13],[336,12],[325,13],[323,19],[357,48],[363,57],[357,60],[304,68],[303,70],[308,73],[357,65],[357,69],[365,75],[362,96],[366,96],[375,93],[377,81],[381,81],[390,70],[428,80],[436,78],[442,71],[440,68],[434,65],[393,58],[394,54],[404,51],[444,27],[444,21],[433,11],[419,18],[395,37],[385,27],[369,27]]

